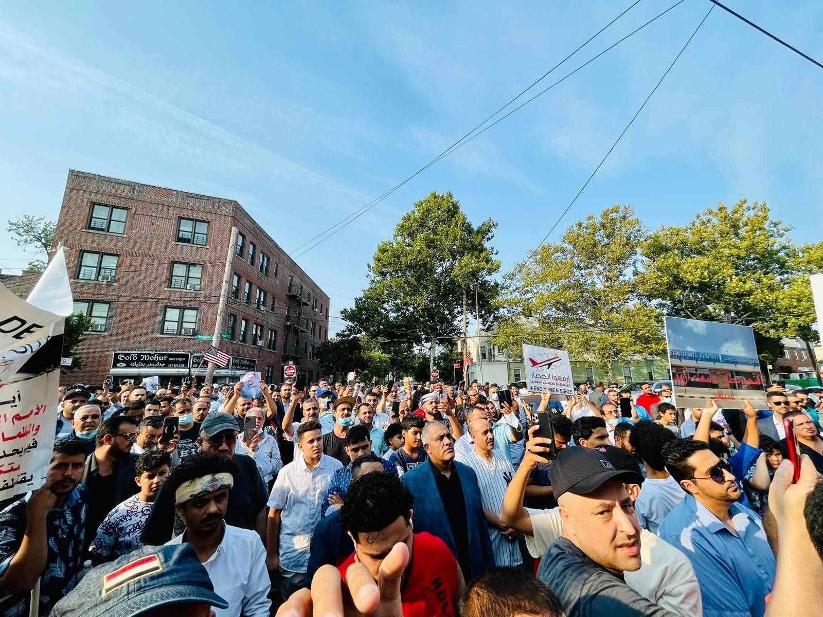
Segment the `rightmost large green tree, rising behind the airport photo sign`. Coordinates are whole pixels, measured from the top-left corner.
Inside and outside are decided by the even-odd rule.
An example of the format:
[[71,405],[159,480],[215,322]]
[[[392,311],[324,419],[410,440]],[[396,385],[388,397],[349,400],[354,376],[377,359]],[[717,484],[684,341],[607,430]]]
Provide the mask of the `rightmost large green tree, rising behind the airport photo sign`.
[[751,325],[760,360],[774,364],[782,336],[814,336],[807,275],[823,267],[823,243],[798,248],[790,230],[765,202],[718,203],[649,237],[640,289],[668,315]]

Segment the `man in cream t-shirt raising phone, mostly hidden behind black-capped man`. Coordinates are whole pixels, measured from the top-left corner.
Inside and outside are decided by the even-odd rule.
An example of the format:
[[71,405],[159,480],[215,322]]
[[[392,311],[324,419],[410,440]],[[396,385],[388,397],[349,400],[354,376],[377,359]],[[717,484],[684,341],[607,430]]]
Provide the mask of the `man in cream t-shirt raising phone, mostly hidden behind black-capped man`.
[[[523,508],[523,496],[526,494],[526,484],[532,470],[539,463],[550,462],[545,457],[548,440],[531,438],[536,428],[529,429],[530,439],[526,444],[526,455],[506,490],[503,507],[500,510],[500,520],[504,524],[525,534],[528,552],[535,558],[542,557],[554,541],[563,535],[563,519],[559,508]],[[600,446],[597,449],[601,450],[617,470],[628,468],[631,456],[627,452],[613,446]],[[632,471],[639,474],[636,462]],[[640,485],[632,484],[625,487],[635,500],[638,494],[643,492]],[[639,540],[641,565],[635,572],[623,573],[626,584],[641,596],[672,613],[683,617],[703,615],[700,586],[695,569],[686,556],[651,531],[642,530]]]

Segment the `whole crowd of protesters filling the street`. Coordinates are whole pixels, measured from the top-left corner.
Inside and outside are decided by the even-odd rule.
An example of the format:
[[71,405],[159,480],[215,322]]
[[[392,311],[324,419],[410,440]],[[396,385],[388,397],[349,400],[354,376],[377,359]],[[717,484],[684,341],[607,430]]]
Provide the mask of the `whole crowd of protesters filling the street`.
[[821,610],[823,399],[641,389],[61,388],[44,485],[2,504],[0,615]]

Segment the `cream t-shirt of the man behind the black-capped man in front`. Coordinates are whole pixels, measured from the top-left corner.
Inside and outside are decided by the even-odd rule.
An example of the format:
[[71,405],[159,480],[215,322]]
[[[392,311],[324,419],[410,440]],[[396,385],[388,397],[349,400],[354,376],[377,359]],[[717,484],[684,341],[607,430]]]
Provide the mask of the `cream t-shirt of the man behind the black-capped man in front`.
[[[645,482],[643,490],[645,490]],[[640,492],[642,493],[643,490]],[[559,508],[526,508],[532,519],[533,536],[526,536],[526,548],[532,557],[542,557],[549,546],[563,535]],[[626,584],[641,596],[683,617],[703,615],[700,585],[691,562],[659,536],[640,530],[640,559],[636,572],[625,572]]]

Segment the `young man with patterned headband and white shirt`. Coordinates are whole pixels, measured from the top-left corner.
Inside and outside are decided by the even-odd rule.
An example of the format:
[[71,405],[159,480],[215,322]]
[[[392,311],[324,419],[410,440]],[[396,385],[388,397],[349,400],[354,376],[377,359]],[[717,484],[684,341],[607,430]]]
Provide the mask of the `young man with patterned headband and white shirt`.
[[198,452],[180,463],[169,484],[186,529],[167,544],[188,542],[197,551],[215,593],[229,604],[216,608],[216,617],[268,617],[271,584],[260,536],[223,520],[236,474],[234,457]]

